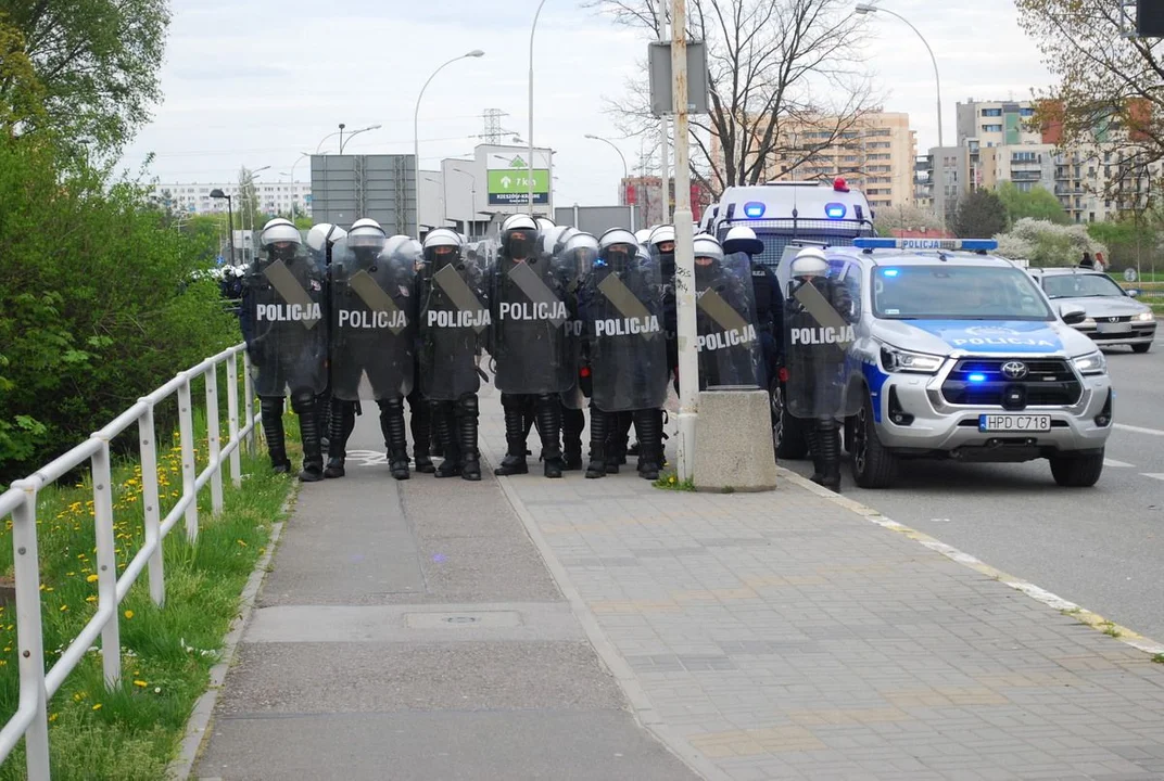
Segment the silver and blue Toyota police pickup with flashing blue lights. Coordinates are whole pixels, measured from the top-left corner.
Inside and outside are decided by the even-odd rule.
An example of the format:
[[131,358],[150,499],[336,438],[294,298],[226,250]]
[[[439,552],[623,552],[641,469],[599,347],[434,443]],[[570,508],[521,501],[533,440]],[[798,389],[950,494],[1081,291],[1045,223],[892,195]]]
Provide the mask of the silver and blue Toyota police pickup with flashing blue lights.
[[[863,488],[894,482],[901,461],[1046,458],[1060,486],[1103,470],[1113,390],[1103,354],[993,241],[857,238],[824,248],[843,285],[852,343],[843,379],[845,445]],[[786,294],[790,245],[778,266]],[[789,335],[786,338],[792,338]],[[797,425],[786,409],[785,434]]]

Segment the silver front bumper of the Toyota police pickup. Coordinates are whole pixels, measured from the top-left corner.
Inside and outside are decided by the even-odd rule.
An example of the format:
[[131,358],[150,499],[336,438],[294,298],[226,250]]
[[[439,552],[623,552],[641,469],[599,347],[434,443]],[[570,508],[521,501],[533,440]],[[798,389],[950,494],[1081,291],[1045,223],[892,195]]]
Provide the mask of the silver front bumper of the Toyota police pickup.
[[[1007,410],[998,406],[951,404],[942,395],[951,361],[936,375],[890,374],[873,403],[880,411],[881,444],[901,454],[949,456],[980,461],[1024,461],[1056,453],[1098,451],[1112,434],[1112,423],[1095,418],[1109,402],[1108,375],[1080,378],[1083,392],[1070,407],[1030,406]],[[892,406],[892,409],[890,409]],[[908,425],[894,423],[893,413],[913,416]],[[980,415],[1050,415],[1045,432],[981,432]],[[900,417],[900,416],[899,416]]]

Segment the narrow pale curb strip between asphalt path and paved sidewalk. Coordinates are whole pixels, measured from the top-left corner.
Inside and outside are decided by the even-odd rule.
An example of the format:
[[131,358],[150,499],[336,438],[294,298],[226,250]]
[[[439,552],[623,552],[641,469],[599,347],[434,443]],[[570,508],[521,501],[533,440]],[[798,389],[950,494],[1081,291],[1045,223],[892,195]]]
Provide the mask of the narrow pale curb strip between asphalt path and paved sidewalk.
[[[481,454],[481,461],[482,471],[484,471],[485,465],[489,464],[489,458],[483,452]],[[538,554],[541,557],[541,560],[549,571],[551,576],[561,590],[562,596],[567,602],[569,602],[570,611],[582,625],[587,639],[598,654],[598,659],[602,661],[603,666],[611,674],[611,676],[613,676],[613,679],[618,682],[618,688],[623,692],[623,696],[626,697],[631,705],[631,715],[634,717],[634,721],[638,722],[640,726],[646,729],[647,732],[653,735],[665,748],[677,757],[701,778],[707,781],[731,781],[731,776],[714,765],[707,757],[687,743],[687,740],[675,735],[672,729],[663,723],[659,712],[655,710],[654,703],[647,696],[643,685],[639,683],[638,679],[634,676],[630,664],[606,638],[606,633],[602,631],[598,619],[595,618],[590,608],[587,607],[585,601],[570,581],[570,576],[566,572],[566,567],[558,561],[558,557],[554,556],[553,549],[542,536],[541,529],[538,528],[538,522],[532,515],[530,515],[530,510],[526,509],[521,497],[518,496],[517,490],[514,490],[510,485],[510,479],[506,477],[498,477],[497,482],[501,485],[505,497],[513,508],[513,511],[517,513],[517,516],[521,520],[521,525],[525,526],[526,533],[538,549]]]

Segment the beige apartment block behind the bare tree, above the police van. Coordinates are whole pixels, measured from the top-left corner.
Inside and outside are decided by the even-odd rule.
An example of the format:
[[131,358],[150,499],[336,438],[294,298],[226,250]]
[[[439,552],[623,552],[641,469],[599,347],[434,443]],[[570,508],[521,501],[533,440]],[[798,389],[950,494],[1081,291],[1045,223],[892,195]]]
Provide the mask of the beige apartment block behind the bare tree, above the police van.
[[[909,114],[867,114],[839,134],[837,124],[836,117],[786,122],[780,146],[792,151],[773,160],[767,179],[803,181],[844,177],[865,193],[874,210],[913,203],[917,134],[909,128]],[[804,162],[796,165],[801,159]]]

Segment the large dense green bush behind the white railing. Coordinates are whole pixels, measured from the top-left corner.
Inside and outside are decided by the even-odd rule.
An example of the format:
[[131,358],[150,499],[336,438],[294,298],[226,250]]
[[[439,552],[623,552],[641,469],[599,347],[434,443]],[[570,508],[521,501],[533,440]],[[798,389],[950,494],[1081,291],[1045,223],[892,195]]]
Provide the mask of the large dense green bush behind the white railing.
[[[0,136],[0,481],[237,342],[210,260],[144,188]],[[163,410],[164,411],[164,410]],[[163,420],[159,425],[165,425]]]

